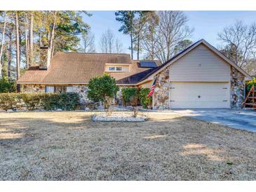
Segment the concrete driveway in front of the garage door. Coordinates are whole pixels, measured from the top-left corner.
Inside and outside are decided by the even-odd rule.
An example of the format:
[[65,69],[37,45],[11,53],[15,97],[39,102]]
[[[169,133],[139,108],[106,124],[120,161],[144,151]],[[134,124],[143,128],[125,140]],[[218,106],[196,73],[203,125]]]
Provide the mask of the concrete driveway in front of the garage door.
[[175,109],[172,111],[210,123],[256,132],[256,111],[243,109]]

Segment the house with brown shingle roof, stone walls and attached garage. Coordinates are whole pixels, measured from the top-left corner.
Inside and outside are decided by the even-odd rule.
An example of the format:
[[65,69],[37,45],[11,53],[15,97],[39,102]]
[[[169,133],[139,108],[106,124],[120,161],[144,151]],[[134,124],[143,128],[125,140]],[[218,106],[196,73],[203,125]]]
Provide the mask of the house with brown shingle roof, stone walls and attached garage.
[[18,84],[22,92],[78,92],[86,102],[90,78],[104,73],[121,88],[150,88],[157,78],[153,109],[240,108],[251,79],[202,39],[163,64],[131,60],[128,54],[56,53],[47,69],[29,68]]

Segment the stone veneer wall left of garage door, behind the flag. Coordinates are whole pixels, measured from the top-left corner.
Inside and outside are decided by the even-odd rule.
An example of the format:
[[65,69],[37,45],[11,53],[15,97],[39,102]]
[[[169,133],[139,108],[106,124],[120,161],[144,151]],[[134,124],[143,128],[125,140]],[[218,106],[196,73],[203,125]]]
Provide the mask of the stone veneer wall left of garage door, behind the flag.
[[160,110],[169,109],[169,67],[166,67],[166,69],[154,76],[154,78],[156,77],[153,108]]

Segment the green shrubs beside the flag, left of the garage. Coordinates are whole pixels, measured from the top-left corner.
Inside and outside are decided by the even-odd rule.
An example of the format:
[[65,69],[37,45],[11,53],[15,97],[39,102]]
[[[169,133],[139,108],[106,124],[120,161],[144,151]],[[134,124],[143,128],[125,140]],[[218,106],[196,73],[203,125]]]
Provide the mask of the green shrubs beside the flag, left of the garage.
[[132,105],[131,100],[135,97],[138,98],[142,107],[149,108],[151,105],[151,97],[147,97],[149,94],[149,88],[123,88],[122,100],[123,105]]

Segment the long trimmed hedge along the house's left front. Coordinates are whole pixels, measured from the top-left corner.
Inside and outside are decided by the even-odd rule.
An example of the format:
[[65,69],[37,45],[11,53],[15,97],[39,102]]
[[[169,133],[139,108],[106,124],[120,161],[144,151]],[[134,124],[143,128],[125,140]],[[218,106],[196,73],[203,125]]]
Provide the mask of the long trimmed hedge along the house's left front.
[[1,93],[0,109],[26,107],[28,110],[74,110],[79,105],[79,94],[67,93]]

